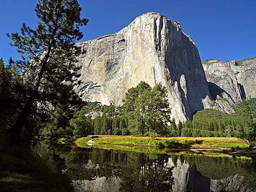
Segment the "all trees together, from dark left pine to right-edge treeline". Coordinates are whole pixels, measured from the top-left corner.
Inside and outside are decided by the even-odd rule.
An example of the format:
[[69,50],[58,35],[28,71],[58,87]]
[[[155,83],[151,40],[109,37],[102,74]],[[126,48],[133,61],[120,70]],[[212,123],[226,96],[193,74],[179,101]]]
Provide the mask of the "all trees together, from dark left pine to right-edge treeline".
[[[234,114],[203,110],[185,123],[170,119],[167,91],[140,82],[130,88],[121,106],[83,101],[74,91],[79,83],[76,65],[82,39],[76,0],[39,1],[36,28],[23,24],[12,40],[20,60],[0,60],[0,131],[10,141],[44,136],[83,137],[114,134],[164,137],[241,137],[255,142],[255,99],[242,101]],[[250,106],[250,107],[249,107]]]

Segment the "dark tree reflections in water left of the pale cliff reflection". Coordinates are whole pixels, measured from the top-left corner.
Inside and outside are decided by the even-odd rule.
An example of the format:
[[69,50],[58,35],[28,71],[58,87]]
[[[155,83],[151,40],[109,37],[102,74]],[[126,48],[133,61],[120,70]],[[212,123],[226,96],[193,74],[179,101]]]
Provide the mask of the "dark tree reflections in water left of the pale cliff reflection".
[[116,176],[122,180],[121,191],[171,191],[173,184],[173,168],[164,165],[167,155],[152,159],[144,153],[58,147],[47,142],[39,142],[34,151],[71,180]]

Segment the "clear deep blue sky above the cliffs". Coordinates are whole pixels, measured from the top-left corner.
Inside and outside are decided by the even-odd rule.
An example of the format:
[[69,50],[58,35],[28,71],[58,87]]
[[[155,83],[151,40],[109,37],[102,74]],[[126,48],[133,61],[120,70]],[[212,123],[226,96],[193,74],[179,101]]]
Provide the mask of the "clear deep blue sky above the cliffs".
[[[0,0],[0,58],[18,58],[7,33],[19,32],[22,23],[37,26],[35,0]],[[256,56],[255,0],[79,0],[83,40],[121,30],[137,16],[160,12],[181,23],[182,31],[194,39],[202,60],[241,60]]]

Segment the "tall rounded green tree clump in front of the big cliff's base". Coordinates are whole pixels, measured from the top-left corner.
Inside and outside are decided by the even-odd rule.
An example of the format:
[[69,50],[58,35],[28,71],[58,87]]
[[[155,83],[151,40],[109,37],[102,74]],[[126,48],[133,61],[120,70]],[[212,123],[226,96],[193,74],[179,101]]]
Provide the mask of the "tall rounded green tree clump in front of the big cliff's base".
[[130,88],[124,99],[124,110],[132,135],[148,135],[151,131],[167,133],[170,109],[167,91],[161,83],[151,88],[146,82],[140,82],[135,88]]

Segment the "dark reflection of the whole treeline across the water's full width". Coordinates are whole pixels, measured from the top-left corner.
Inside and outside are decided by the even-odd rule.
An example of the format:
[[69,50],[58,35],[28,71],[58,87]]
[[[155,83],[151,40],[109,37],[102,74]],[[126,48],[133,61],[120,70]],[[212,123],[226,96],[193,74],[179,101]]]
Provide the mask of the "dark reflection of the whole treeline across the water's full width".
[[61,171],[71,180],[94,180],[96,177],[120,177],[121,191],[171,191],[173,167],[165,166],[172,158],[174,166],[195,164],[197,171],[214,180],[235,174],[245,176],[255,188],[255,162],[241,158],[209,157],[204,155],[154,155],[121,150],[80,149],[58,147],[39,142],[34,151],[48,162],[53,171]]

